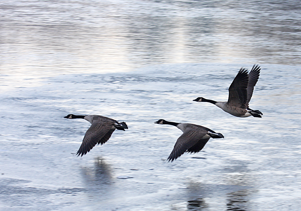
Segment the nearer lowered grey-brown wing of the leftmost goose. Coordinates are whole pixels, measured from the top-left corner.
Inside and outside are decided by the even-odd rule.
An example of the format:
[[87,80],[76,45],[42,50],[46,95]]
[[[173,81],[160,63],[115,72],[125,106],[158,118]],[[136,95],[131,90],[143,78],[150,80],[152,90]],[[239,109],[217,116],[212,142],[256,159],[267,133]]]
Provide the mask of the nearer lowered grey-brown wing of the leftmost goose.
[[87,130],[85,137],[82,140],[82,145],[79,147],[76,155],[78,154],[79,156],[81,154],[81,156],[83,156],[88,153],[110,131],[113,125],[114,122],[104,123],[94,121],[90,128]]

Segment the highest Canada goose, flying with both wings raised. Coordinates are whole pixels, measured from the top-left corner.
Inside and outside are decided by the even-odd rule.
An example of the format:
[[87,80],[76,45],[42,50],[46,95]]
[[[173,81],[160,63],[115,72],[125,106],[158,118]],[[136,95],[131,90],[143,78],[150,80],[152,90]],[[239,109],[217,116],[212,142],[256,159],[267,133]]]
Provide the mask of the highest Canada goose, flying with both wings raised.
[[259,110],[254,111],[249,108],[249,102],[259,78],[260,70],[258,65],[254,65],[248,74],[247,69],[241,68],[229,87],[228,102],[216,102],[203,97],[198,97],[193,101],[210,102],[233,116],[248,117],[252,115],[261,118],[262,113]]

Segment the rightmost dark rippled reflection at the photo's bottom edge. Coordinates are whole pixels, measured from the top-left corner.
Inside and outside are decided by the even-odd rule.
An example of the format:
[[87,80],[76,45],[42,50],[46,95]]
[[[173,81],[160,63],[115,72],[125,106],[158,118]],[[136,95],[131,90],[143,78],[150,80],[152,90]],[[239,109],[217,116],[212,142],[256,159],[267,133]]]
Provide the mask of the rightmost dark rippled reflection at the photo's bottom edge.
[[248,190],[236,191],[227,194],[227,210],[247,211],[247,197],[250,195]]

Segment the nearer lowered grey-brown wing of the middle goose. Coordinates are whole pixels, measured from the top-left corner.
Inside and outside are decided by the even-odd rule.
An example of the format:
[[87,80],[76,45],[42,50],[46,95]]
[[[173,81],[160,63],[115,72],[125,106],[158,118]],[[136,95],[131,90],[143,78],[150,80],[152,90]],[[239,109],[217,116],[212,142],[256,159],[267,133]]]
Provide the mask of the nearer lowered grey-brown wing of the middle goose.
[[167,158],[168,161],[177,159],[184,154],[188,149],[194,146],[208,131],[206,130],[187,130],[185,131],[175,143],[175,146]]

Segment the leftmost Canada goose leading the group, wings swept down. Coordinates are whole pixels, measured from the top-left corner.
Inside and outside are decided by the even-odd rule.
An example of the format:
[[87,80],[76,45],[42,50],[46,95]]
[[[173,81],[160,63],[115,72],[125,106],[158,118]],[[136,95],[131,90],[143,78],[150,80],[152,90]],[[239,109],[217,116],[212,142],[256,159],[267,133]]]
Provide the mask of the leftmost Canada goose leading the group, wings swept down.
[[104,144],[109,140],[112,133],[117,130],[125,131],[124,129],[128,129],[128,126],[125,122],[119,123],[118,121],[107,118],[104,116],[99,115],[73,115],[69,114],[65,116],[64,118],[67,119],[85,119],[89,121],[92,125],[87,130],[84,139],[82,140],[82,145],[80,145],[79,150],[77,153],[78,156],[82,154],[81,156],[87,154],[96,144]]

